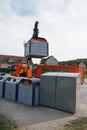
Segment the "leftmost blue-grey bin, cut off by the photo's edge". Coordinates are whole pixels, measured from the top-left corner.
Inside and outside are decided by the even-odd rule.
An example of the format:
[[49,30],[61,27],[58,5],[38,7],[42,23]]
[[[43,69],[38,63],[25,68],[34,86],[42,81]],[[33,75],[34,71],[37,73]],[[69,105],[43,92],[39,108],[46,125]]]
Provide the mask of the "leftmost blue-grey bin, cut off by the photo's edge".
[[6,76],[0,76],[0,97],[4,97]]

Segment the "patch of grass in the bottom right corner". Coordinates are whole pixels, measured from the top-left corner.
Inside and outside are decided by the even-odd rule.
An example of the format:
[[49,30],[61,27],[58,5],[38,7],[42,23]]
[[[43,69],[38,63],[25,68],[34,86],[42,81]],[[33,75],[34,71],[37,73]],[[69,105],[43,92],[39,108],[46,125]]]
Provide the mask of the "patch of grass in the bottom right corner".
[[87,117],[82,117],[71,121],[62,130],[87,130]]

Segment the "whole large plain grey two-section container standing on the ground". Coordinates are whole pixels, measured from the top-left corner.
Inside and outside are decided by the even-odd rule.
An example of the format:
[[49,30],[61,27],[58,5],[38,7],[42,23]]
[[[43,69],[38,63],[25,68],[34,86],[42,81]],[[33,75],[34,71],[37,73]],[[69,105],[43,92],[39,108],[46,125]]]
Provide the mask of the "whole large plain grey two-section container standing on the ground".
[[71,113],[77,112],[80,106],[80,74],[43,74],[40,81],[40,104]]

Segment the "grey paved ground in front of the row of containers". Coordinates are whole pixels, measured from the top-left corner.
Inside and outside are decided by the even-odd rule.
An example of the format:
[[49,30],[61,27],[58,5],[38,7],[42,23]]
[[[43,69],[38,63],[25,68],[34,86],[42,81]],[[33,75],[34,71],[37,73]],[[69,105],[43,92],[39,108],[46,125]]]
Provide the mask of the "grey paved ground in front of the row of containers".
[[60,130],[68,121],[87,116],[87,80],[81,85],[80,109],[75,114],[47,107],[27,107],[0,99],[0,112],[15,122],[19,130]]

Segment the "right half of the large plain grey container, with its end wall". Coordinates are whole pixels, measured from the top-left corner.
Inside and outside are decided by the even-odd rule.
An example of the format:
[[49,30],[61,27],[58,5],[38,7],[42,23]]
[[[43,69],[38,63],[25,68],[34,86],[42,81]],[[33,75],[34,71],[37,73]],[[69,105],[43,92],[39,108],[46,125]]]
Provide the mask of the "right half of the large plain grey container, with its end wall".
[[56,108],[77,112],[80,108],[80,74],[60,73],[56,84]]

